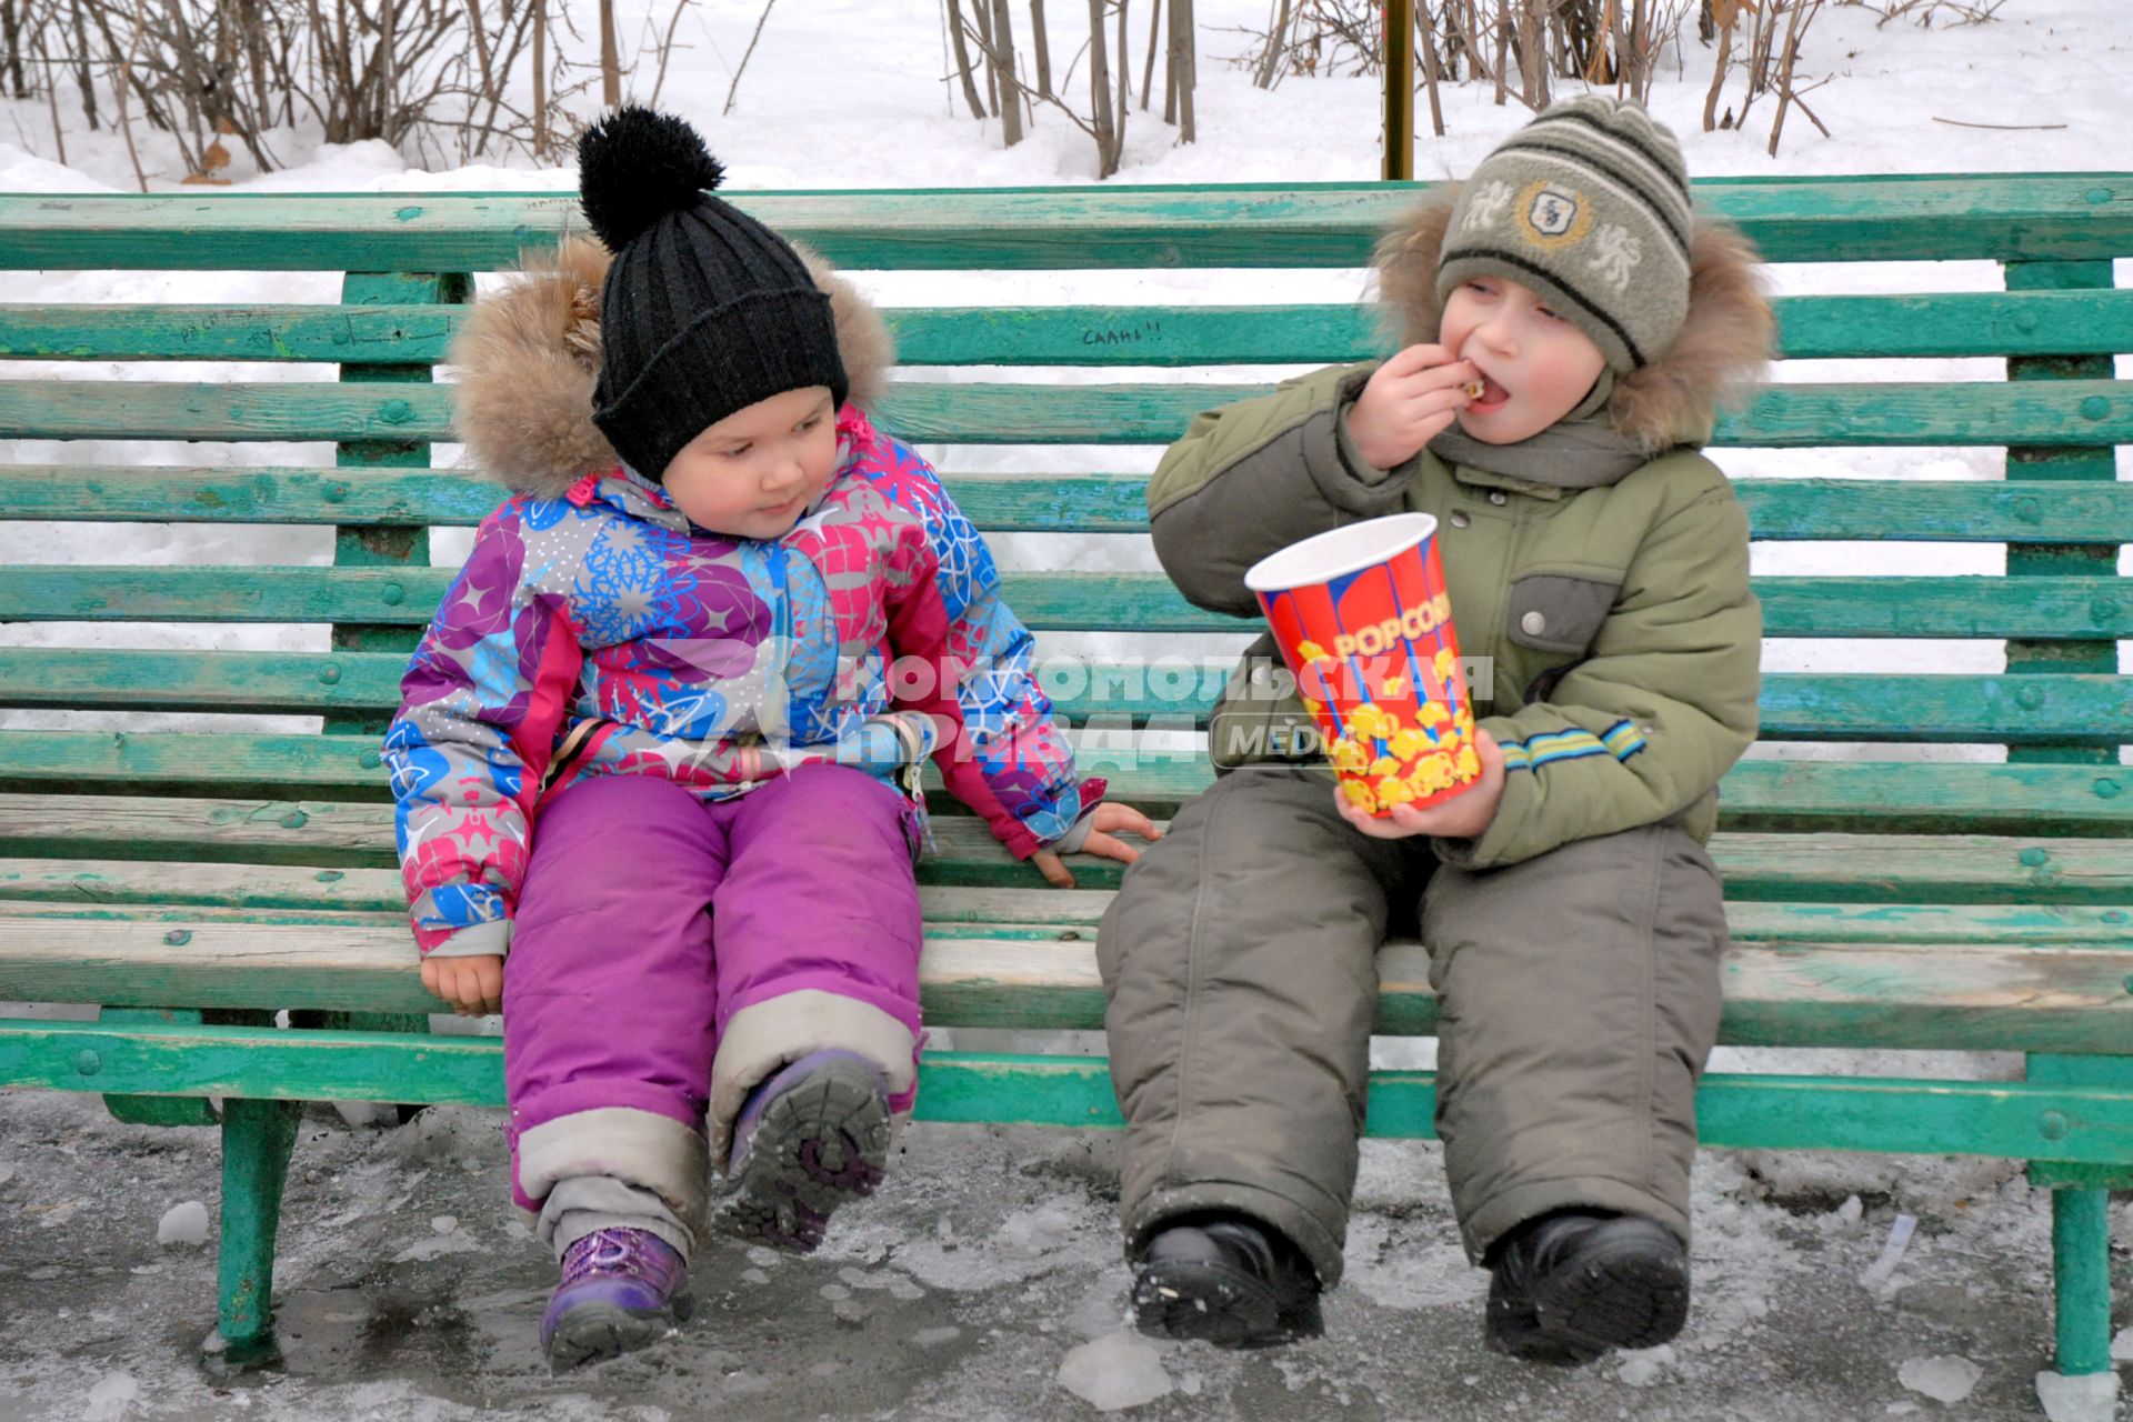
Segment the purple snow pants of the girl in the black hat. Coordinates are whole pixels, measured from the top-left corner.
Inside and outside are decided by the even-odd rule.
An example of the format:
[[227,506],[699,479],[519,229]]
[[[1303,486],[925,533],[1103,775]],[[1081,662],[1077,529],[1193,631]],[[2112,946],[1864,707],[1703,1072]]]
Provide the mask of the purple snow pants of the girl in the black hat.
[[[847,1011],[900,1040],[900,1023],[915,1051],[913,834],[900,793],[840,765],[802,765],[719,804],[661,776],[599,776],[557,795],[540,812],[503,966],[514,1200],[540,1209],[552,1183],[531,1196],[520,1185],[520,1136],[550,1126],[552,1141],[572,1132],[565,1117],[587,1124],[572,1151],[591,1162],[584,1173],[657,1187],[661,1166],[634,1160],[648,1117],[697,1132],[702,1162],[712,1057],[744,1008],[832,993],[787,1002],[811,1004],[806,1030],[834,1034]],[[909,1111],[913,1092],[892,1109]],[[625,1130],[602,1130],[616,1117]],[[676,1132],[657,1119],[648,1130],[653,1153],[672,1156]]]

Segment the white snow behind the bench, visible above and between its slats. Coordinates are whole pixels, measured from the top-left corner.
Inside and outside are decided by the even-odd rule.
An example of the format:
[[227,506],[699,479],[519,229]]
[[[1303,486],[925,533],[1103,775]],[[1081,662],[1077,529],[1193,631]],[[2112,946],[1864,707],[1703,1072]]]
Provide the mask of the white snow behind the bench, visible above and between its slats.
[[[1201,183],[1201,181],[1369,181],[1378,177],[1376,79],[1290,77],[1273,92],[1252,87],[1250,75],[1224,62],[1250,49],[1241,26],[1263,26],[1261,0],[1203,0],[1199,143],[1177,145],[1175,130],[1152,113],[1135,111],[1128,126],[1124,166],[1113,181]],[[1060,43],[1056,55],[1071,55],[1079,19],[1075,6],[1049,6]],[[621,0],[619,28],[625,36],[646,26],[663,26],[670,6]],[[749,43],[761,9],[753,0],[704,0],[683,13],[678,45],[661,102],[697,122],[712,151],[727,166],[727,185],[749,188],[926,188],[926,185],[1028,185],[1084,183],[1094,175],[1088,136],[1062,115],[1039,111],[1037,128],[1017,147],[1000,145],[998,122],[968,119],[951,109],[949,62],[943,55],[939,4],[934,0],[811,0],[806,6],[772,9],[761,43],[749,60],[732,115],[721,115],[732,66]],[[1785,124],[1777,160],[1764,151],[1775,104],[1758,100],[1747,130],[1702,132],[1711,51],[1694,43],[1666,66],[1672,79],[1653,92],[1653,111],[1683,139],[1694,175],[1773,173],[1990,173],[1990,171],[2075,171],[2107,168],[2122,149],[2122,126],[2133,115],[2127,98],[2133,85],[2133,17],[2107,0],[2022,0],[1999,11],[1984,26],[1920,28],[1911,19],[1886,26],[1869,6],[1832,6],[1813,21],[1800,72],[1830,77],[1813,92],[1815,113],[1830,128],[1824,139],[1798,113]],[[1086,36],[1086,28],[1079,30]],[[1024,34],[1026,41],[1026,34]],[[1139,43],[1139,36],[1135,38]],[[1058,58],[1056,64],[1064,64]],[[1805,83],[1805,79],[1802,79]],[[1062,81],[1064,87],[1064,81]],[[1738,81],[1728,90],[1734,100]],[[1427,107],[1418,117],[1414,171],[1418,177],[1465,173],[1510,128],[1525,109],[1514,100],[1491,102],[1487,85],[1444,92],[1448,134],[1427,132]],[[960,104],[960,98],[956,98]],[[1160,102],[1158,102],[1160,107]],[[79,111],[60,109],[68,126],[68,158],[77,168],[51,162],[51,115],[36,102],[0,102],[11,124],[0,126],[0,190],[19,192],[130,192],[132,164],[124,141],[109,128],[79,132]],[[1943,124],[1939,119],[1954,119]],[[2007,124],[2022,128],[1967,128],[1960,124]],[[11,145],[4,134],[13,132]],[[175,147],[137,126],[149,185],[177,190],[183,164]],[[28,149],[23,147],[28,145]],[[405,190],[572,190],[570,168],[474,166],[450,173],[410,168],[384,143],[350,147],[305,141],[303,130],[275,132],[273,147],[292,164],[264,177],[250,175],[250,160],[237,151],[232,192],[405,192]],[[305,160],[305,153],[311,153]],[[2122,166],[2122,162],[2120,162]],[[192,188],[188,192],[201,192]],[[2120,262],[2120,284],[2133,262]],[[1278,284],[1252,273],[853,273],[883,305],[1052,305],[1052,303],[1252,303],[1252,301],[1352,301],[1365,294],[1361,271],[1280,273]],[[1785,264],[1773,266],[1779,294],[1811,292],[1903,292],[1903,290],[2001,290],[1992,262],[1879,262],[1873,266]],[[190,301],[190,303],[333,303],[339,277],[333,273],[51,273],[38,279],[41,301]],[[2120,371],[2133,360],[2120,358]],[[15,362],[11,377],[49,373],[60,379],[333,379],[333,367],[273,365],[119,365],[119,362]],[[1286,367],[1229,367],[1197,371],[1148,371],[1107,367],[1088,371],[941,371],[909,369],[926,379],[1276,379]],[[1796,360],[1777,369],[1779,379],[2003,379],[2001,360]],[[964,446],[926,450],[949,471],[1054,471],[1054,469],[1152,469],[1156,448],[1013,448]],[[331,463],[328,446],[250,443],[105,443],[105,441],[0,441],[0,458],[38,463],[232,463],[286,465]],[[454,465],[459,450],[435,448],[437,465]],[[1999,448],[1892,448],[1892,450],[1717,450],[1715,458],[1732,475],[1753,478],[2001,478]],[[2133,454],[2120,450],[2120,469],[2133,469]],[[465,531],[435,535],[435,561],[465,556]],[[996,539],[1005,565],[1043,563],[1058,567],[1062,548],[1045,535]],[[0,529],[0,561],[230,561],[230,563],[331,563],[328,529],[245,527],[100,527],[100,524],[11,524]],[[1141,537],[1075,539],[1079,567],[1154,569]],[[2122,569],[2133,567],[2133,552]],[[1758,573],[2001,573],[2005,550],[1996,544],[1881,544],[1869,559],[1858,546],[1764,544],[1755,550]],[[326,631],[282,627],[147,627],[147,625],[19,625],[0,629],[11,644],[68,646],[213,646],[228,650],[301,648],[324,650]],[[1241,637],[1143,637],[1101,640],[1056,635],[1043,642],[1049,655],[1073,652],[1186,652],[1226,665]],[[2127,663],[2129,648],[2120,648]],[[1770,672],[1999,672],[1999,642],[1770,642],[1764,665]],[[0,712],[0,725],[51,725],[51,712]],[[75,716],[70,723],[81,725]],[[90,721],[94,723],[94,721]],[[143,725],[139,716],[132,725]],[[166,727],[198,727],[201,716],[171,716]],[[309,729],[305,718],[243,718],[220,725]],[[2003,759],[1996,746],[1879,746],[1764,744],[1753,755],[1807,755],[1871,759]],[[2133,753],[2129,753],[2133,755]]]

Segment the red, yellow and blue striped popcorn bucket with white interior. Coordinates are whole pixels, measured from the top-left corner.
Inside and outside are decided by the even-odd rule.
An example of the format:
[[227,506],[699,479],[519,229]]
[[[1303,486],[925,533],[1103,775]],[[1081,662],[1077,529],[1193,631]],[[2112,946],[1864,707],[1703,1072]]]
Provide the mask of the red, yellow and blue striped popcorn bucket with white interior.
[[1480,780],[1436,531],[1429,514],[1372,518],[1290,544],[1244,576],[1342,793],[1378,817]]

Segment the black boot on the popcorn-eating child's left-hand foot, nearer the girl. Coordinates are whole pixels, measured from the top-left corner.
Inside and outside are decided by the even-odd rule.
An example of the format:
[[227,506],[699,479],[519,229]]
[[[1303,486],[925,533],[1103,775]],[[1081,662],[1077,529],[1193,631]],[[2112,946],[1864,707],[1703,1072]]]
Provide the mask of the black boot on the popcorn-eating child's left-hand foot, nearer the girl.
[[1133,1262],[1141,1332],[1216,1347],[1267,1347],[1325,1332],[1318,1275],[1303,1254],[1248,1215],[1197,1215],[1165,1226]]

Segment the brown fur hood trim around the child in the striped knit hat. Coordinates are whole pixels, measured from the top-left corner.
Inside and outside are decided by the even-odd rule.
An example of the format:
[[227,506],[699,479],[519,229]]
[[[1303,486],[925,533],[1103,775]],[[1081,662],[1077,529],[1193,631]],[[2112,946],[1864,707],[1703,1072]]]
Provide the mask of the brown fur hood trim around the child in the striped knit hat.
[[[1436,192],[1378,243],[1378,301],[1401,343],[1436,341],[1438,254],[1457,188]],[[1613,426],[1647,454],[1704,443],[1719,405],[1738,401],[1770,360],[1777,318],[1762,290],[1755,245],[1732,224],[1696,215],[1689,235],[1689,316],[1657,360],[1615,379]]]

